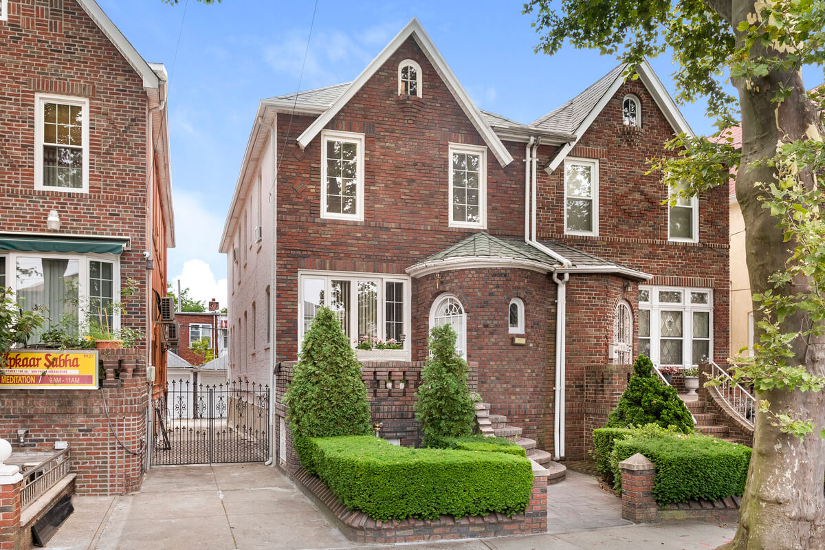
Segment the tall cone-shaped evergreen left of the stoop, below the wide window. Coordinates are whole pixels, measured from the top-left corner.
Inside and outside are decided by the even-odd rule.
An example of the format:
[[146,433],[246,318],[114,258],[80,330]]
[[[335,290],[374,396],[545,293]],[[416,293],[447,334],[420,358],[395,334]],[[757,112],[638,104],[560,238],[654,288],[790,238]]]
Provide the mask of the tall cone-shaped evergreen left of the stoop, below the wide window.
[[318,309],[304,336],[284,403],[301,463],[307,438],[369,433],[370,402],[361,364],[330,308]]

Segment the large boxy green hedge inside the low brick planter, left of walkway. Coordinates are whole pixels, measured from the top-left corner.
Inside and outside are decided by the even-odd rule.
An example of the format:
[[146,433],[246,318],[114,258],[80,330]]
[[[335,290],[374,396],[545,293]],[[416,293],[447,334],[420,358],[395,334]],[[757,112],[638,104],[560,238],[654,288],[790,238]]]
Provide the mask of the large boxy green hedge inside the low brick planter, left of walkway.
[[371,518],[437,519],[523,512],[533,471],[501,452],[410,449],[373,436],[307,438],[301,463],[351,510]]

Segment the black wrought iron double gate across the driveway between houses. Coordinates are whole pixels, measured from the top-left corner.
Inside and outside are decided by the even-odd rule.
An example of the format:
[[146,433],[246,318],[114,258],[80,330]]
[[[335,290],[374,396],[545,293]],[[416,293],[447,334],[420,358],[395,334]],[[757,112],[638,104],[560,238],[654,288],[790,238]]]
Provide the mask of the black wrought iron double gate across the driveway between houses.
[[153,465],[269,458],[269,386],[172,380],[153,405]]

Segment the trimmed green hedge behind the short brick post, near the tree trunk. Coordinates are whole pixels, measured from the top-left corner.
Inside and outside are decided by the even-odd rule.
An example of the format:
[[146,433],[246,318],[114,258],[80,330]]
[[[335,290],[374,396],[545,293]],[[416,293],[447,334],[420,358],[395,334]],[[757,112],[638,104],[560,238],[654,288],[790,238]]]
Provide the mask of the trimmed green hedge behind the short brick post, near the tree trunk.
[[751,449],[709,435],[681,434],[657,425],[593,431],[597,463],[610,464],[615,489],[621,488],[619,463],[641,453],[656,465],[653,496],[660,505],[719,501],[742,496]]

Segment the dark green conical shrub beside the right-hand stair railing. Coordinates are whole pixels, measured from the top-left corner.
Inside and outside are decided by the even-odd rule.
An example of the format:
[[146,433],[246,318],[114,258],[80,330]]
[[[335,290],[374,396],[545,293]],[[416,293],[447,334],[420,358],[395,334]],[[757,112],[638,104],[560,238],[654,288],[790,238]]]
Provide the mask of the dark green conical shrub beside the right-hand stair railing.
[[607,416],[608,428],[657,424],[673,426],[686,434],[693,433],[693,419],[676,393],[653,374],[653,363],[639,355],[633,365],[633,376],[621,394],[619,404]]

